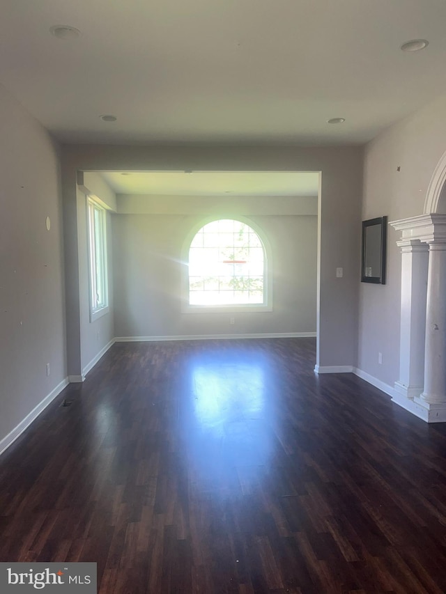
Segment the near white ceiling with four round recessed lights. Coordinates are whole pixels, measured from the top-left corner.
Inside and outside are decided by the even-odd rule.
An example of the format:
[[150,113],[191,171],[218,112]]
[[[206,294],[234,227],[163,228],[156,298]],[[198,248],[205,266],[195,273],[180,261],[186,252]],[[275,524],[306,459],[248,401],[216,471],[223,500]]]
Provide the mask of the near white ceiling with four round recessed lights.
[[0,82],[66,142],[364,143],[446,93],[445,26],[445,0],[2,0]]

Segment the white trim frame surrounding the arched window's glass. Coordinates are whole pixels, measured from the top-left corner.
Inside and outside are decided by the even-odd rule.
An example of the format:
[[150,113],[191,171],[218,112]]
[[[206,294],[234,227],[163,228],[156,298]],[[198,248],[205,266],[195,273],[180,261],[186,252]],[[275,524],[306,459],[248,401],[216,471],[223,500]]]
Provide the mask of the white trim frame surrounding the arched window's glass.
[[[218,304],[218,305],[191,305],[189,302],[189,250],[192,240],[195,235],[199,232],[203,226],[213,221],[220,221],[222,219],[231,219],[233,221],[240,221],[245,223],[259,236],[263,245],[264,255],[264,272],[263,272],[263,304]],[[206,219],[200,219],[195,224],[190,233],[185,238],[182,250],[182,313],[248,313],[248,312],[268,312],[272,311],[272,275],[271,275],[271,248],[266,233],[247,217],[241,217],[239,215],[233,216],[231,214],[221,214],[214,217],[206,217]]]

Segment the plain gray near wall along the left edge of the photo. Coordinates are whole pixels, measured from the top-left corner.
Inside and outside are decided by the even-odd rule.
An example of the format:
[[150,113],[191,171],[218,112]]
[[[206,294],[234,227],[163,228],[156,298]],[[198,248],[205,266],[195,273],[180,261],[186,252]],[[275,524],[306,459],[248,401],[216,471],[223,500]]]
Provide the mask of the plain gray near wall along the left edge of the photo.
[[66,336],[59,150],[2,86],[0,130],[1,450],[65,379]]

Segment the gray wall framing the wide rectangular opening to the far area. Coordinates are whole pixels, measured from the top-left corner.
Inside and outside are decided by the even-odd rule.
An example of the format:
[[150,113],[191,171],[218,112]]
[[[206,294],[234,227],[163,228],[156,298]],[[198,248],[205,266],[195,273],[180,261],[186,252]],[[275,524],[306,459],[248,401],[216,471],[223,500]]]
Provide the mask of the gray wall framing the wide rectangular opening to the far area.
[[[357,274],[360,253],[360,197],[362,188],[362,148],[298,148],[255,146],[64,146],[63,200],[66,212],[68,308],[68,366],[79,373],[80,313],[79,266],[76,216],[76,172],[82,171],[321,171],[322,191],[318,224],[320,300],[316,313],[319,327],[318,364],[352,366],[357,348]],[[124,232],[123,232],[124,233]],[[117,257],[117,253],[114,254]],[[344,268],[342,279],[336,268]],[[116,263],[115,269],[121,268]],[[73,273],[71,274],[71,271]],[[123,297],[120,297],[121,303]],[[116,331],[122,327],[116,311]],[[188,322],[189,323],[189,322]],[[131,327],[129,328],[130,331]],[[139,333],[138,333],[139,334]],[[162,331],[161,335],[167,334]],[[198,334],[195,333],[194,334]]]

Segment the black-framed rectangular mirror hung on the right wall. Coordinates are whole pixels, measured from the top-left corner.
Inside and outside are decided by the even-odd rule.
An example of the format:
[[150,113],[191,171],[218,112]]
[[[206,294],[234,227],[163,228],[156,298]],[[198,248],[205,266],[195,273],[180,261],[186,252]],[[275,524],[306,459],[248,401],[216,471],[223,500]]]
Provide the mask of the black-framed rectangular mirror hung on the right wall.
[[385,284],[387,217],[362,221],[361,282]]

